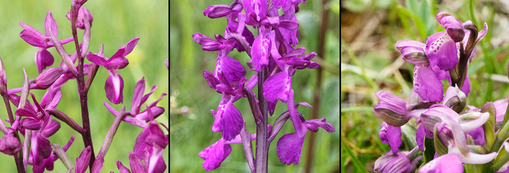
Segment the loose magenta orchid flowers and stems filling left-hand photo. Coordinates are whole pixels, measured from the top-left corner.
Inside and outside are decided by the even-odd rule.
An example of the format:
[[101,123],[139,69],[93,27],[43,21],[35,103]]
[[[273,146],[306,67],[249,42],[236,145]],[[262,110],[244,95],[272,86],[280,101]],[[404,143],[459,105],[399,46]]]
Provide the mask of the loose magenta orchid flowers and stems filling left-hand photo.
[[[162,153],[168,145],[169,136],[161,130],[159,124],[166,129],[166,132],[168,132],[168,128],[154,119],[164,112],[164,108],[157,106],[157,103],[166,94],[162,93],[159,99],[150,105],[146,105],[149,96],[156,90],[157,86],[153,86],[151,92],[144,95],[145,77],[135,85],[130,111],[125,111],[124,106],[119,112],[107,102],[104,102],[106,108],[116,118],[106,134],[97,157],[95,156],[87,107],[88,90],[99,66],[103,66],[109,73],[104,85],[106,98],[114,104],[123,102],[124,81],[118,70],[129,64],[126,56],[134,50],[139,38],[134,38],[125,46],[120,46],[118,51],[109,58],[103,55],[102,44],[97,53],[88,51],[93,15],[87,8],[82,7],[85,2],[87,1],[72,1],[71,10],[66,16],[71,22],[73,36],[64,40],[58,39],[59,28],[51,12],[47,13],[44,22],[45,35],[28,24],[19,23],[23,28],[19,34],[21,39],[39,48],[35,53],[35,63],[40,74],[36,78],[29,79],[23,69],[23,86],[8,89],[6,70],[4,63],[0,60],[0,95],[4,98],[9,115],[9,119],[5,119],[5,121],[10,124],[10,126],[6,126],[4,121],[0,120],[0,131],[5,134],[0,137],[0,152],[14,156],[18,172],[25,172],[27,165],[33,165],[33,172],[53,170],[53,163],[57,159],[62,160],[68,168],[67,172],[85,172],[89,167],[91,172],[100,172],[104,163],[104,156],[119,124],[127,122],[143,128],[134,141],[133,152],[129,154],[131,170],[133,172],[164,172],[166,165]],[[78,28],[84,30],[81,44],[77,40],[76,30]],[[75,43],[76,51],[73,54],[68,54],[62,46],[69,42]],[[62,57],[59,67],[50,67],[54,63],[54,57],[47,49],[52,47]],[[85,58],[91,63],[84,63]],[[77,65],[75,65],[76,61]],[[165,64],[167,68],[168,60]],[[86,81],[84,80],[85,75],[88,75]],[[62,95],[65,94],[62,93],[61,87],[71,79],[77,81],[81,117],[83,119],[81,126],[66,113],[56,109]],[[30,90],[46,90],[46,93],[39,102],[36,95],[31,93]],[[32,102],[29,101],[29,97],[31,97]],[[14,113],[10,107],[11,103],[17,107]],[[146,109],[141,110],[142,107],[146,107]],[[73,143],[74,136],[63,148],[49,140],[49,137],[61,127],[61,123],[56,121],[55,118],[82,135],[85,147],[74,163],[65,153]],[[20,139],[21,136],[24,136],[24,141]],[[130,172],[122,163],[119,161],[117,163],[121,172]]]

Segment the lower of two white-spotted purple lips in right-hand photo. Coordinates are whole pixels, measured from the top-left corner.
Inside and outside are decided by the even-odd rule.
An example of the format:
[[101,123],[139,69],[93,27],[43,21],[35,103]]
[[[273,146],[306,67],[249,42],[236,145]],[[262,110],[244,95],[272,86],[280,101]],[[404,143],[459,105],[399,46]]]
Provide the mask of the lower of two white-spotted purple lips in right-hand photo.
[[414,91],[422,100],[440,102],[443,99],[443,84],[429,67],[415,66]]

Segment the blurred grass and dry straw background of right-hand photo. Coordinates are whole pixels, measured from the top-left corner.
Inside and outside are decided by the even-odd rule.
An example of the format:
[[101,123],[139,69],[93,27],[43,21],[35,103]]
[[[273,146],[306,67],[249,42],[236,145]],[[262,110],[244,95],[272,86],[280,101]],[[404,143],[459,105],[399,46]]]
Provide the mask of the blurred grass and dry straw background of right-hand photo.
[[[399,40],[425,41],[445,29],[438,12],[471,20],[486,37],[477,44],[469,64],[471,90],[467,104],[482,107],[507,98],[509,4],[507,1],[344,0],[341,3],[341,170],[373,172],[377,158],[389,151],[378,132],[382,121],[373,112],[375,92],[384,90],[406,99],[412,91],[414,65],[394,47]],[[442,81],[444,89],[449,84]],[[408,151],[403,144],[400,151]]]

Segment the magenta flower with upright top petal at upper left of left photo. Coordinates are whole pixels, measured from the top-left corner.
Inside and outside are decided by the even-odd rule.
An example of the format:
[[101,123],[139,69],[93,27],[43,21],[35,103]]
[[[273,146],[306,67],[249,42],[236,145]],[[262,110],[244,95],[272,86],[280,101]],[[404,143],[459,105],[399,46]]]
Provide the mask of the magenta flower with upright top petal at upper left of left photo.
[[[29,43],[32,46],[39,47],[39,50],[35,54],[35,63],[37,65],[37,69],[39,73],[42,72],[46,67],[53,65],[54,59],[53,55],[49,53],[46,49],[55,46],[53,42],[49,39],[49,33],[53,33],[55,37],[58,37],[59,28],[56,25],[55,19],[51,15],[51,12],[48,11],[46,14],[46,20],[44,21],[44,28],[46,31],[46,35],[42,35],[39,31],[37,31],[32,26],[25,24],[23,22],[19,22],[21,27],[24,28],[21,33],[19,33],[19,37],[23,39],[25,42]],[[74,39],[72,37],[67,38],[65,40],[59,41],[60,44],[66,44]]]

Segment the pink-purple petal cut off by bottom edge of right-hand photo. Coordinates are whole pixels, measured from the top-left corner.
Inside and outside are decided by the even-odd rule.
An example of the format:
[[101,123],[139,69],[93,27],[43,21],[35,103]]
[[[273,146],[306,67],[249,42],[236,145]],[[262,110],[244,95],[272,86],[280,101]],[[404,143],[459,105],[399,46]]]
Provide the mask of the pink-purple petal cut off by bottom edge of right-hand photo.
[[463,172],[463,164],[457,154],[442,155],[426,163],[419,169],[419,173],[432,172]]

